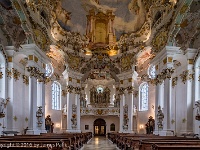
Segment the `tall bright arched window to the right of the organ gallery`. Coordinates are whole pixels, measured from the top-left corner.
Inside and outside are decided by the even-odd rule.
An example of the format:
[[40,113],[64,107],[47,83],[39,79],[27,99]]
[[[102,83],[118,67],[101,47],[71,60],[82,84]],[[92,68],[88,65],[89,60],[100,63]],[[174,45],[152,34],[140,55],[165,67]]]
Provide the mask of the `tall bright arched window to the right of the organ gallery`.
[[148,110],[148,84],[142,83],[140,85],[140,93],[139,93],[139,110],[145,111]]

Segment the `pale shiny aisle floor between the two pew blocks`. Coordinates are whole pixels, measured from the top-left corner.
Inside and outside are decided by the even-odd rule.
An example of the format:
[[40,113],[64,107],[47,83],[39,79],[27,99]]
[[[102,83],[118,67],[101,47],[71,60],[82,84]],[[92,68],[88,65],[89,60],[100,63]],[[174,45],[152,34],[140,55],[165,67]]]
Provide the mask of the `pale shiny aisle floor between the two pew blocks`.
[[117,147],[106,137],[93,137],[88,144],[84,145],[83,150],[117,150]]

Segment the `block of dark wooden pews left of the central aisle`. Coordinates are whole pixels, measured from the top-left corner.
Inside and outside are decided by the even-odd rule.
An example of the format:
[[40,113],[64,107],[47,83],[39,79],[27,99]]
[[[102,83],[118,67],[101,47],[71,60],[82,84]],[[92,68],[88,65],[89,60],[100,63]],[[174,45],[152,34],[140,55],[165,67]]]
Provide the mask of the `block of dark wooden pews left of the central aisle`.
[[[92,137],[92,133],[64,133],[64,134],[42,134],[42,135],[17,135],[0,138],[2,148],[12,144],[10,148],[16,149],[80,149],[84,143]],[[31,147],[32,146],[32,147]],[[37,149],[38,149],[37,148]]]

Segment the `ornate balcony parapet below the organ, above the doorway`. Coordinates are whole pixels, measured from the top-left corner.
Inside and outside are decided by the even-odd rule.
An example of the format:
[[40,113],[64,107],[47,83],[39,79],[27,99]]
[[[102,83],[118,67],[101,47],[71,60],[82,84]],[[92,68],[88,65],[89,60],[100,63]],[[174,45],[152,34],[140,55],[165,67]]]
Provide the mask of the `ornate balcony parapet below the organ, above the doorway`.
[[104,116],[104,115],[115,115],[119,116],[119,108],[81,108],[81,116],[84,115],[94,115],[94,116]]

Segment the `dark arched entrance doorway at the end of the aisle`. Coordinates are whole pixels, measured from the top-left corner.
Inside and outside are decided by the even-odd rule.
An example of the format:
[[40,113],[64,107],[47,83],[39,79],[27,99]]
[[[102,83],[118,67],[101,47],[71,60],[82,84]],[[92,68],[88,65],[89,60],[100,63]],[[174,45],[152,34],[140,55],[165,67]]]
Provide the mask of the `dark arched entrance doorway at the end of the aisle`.
[[104,119],[96,119],[94,121],[94,136],[106,135],[106,122]]

